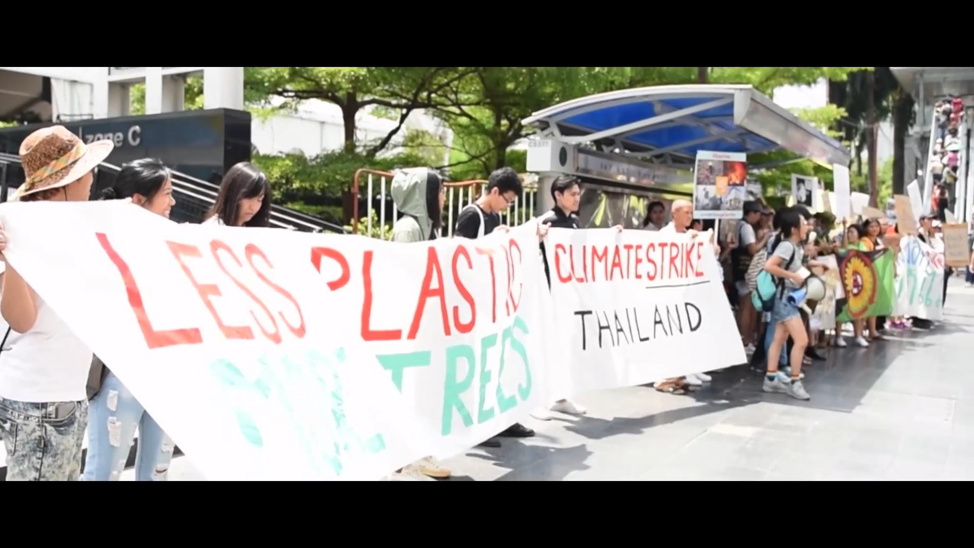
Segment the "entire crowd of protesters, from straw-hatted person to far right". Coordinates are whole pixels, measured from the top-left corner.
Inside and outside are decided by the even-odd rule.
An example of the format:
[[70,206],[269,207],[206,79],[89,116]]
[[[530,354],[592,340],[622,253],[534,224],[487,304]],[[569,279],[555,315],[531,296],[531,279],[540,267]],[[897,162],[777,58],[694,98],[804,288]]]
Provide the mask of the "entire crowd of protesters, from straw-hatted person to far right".
[[[89,200],[92,172],[111,150],[111,141],[86,144],[59,126],[38,130],[20,146],[26,180],[17,192],[17,199]],[[551,184],[550,192],[554,207],[539,217],[542,252],[543,236],[549,227],[581,227],[577,215],[581,195],[579,179],[559,176]],[[516,172],[510,168],[495,171],[481,196],[461,211],[455,235],[476,239],[506,230],[500,214],[521,193],[521,180]],[[437,237],[445,196],[442,176],[427,168],[403,170],[393,178],[392,196],[400,212],[393,226],[393,242],[424,242]],[[169,169],[152,159],[126,164],[99,198],[126,200],[131,207],[164,217],[169,217],[175,204]],[[266,227],[270,208],[267,176],[255,166],[242,163],[223,177],[218,197],[204,222]],[[743,212],[743,219],[721,245],[716,240],[713,243],[742,345],[751,354],[752,367],[765,373],[765,391],[807,400],[810,396],[803,384],[803,368],[813,360],[824,359],[816,347],[830,341],[839,347],[846,344],[841,330],[831,340],[824,333],[816,333],[809,321],[808,303],[790,297],[805,284],[808,269],[828,267],[818,257],[840,249],[881,249],[890,228],[883,226],[881,219],[867,219],[861,225],[846,226],[843,234],[831,239],[829,234],[835,218],[828,214],[811,215],[801,206],[775,212],[755,201],[746,202]],[[706,234],[703,223],[693,219],[693,203],[689,201],[673,202],[670,217],[666,223],[665,206],[653,202],[644,228],[663,233],[689,233],[692,238]],[[920,219],[920,237],[924,241],[937,240],[935,222],[932,216]],[[6,247],[7,232],[0,227],[0,254]],[[3,366],[0,367],[0,433],[7,455],[7,479],[118,480],[137,430],[136,479],[166,480],[172,440],[110,367],[93,357],[85,343],[34,293],[17,270],[0,261],[0,268],[4,266],[0,274],[0,311],[10,329],[0,344]],[[548,274],[546,262],[544,269]],[[969,275],[974,276],[974,254],[970,270]],[[773,294],[767,303],[754,296],[761,293],[766,279],[773,281]],[[865,347],[882,341],[883,324],[881,318],[855,322],[855,343]],[[908,319],[893,318],[885,322],[889,328],[908,325]],[[913,326],[922,327],[916,320]],[[701,364],[700,369],[706,370],[706,365]],[[709,373],[662,379],[655,383],[656,389],[684,394],[710,381]],[[578,403],[562,399],[533,414],[540,419],[550,418],[546,411],[586,412]],[[82,475],[82,442],[86,432],[89,443]],[[534,435],[531,428],[515,423],[482,445],[500,447],[501,438]],[[432,481],[450,475],[449,469],[427,456],[391,472],[389,479]]]

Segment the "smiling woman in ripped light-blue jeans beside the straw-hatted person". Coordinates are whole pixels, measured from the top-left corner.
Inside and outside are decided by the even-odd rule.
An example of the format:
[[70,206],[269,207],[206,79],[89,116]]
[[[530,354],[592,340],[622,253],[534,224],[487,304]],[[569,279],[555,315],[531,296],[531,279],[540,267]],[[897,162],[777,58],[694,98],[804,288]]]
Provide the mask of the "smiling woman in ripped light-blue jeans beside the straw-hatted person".
[[[152,158],[122,166],[115,183],[101,191],[101,198],[131,199],[132,204],[167,218],[176,204],[172,198],[169,168]],[[172,441],[108,368],[101,371],[101,386],[90,405],[84,479],[96,482],[118,480],[129,459],[131,441],[138,427],[135,481],[166,481],[172,460]]]

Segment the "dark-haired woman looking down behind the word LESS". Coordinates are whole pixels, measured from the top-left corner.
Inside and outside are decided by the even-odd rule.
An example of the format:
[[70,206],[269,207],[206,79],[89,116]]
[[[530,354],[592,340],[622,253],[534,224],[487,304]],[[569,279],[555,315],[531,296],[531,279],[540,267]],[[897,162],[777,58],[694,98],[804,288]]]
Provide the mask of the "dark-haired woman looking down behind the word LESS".
[[204,224],[268,226],[271,223],[271,184],[256,166],[241,162],[227,171],[216,203]]

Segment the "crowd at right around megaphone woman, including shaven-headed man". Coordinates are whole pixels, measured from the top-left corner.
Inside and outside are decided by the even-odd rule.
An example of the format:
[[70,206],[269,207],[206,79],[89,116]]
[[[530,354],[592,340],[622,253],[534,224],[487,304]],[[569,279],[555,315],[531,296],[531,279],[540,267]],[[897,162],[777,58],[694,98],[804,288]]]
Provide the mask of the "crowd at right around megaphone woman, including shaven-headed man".
[[[673,221],[686,223],[688,228],[696,226],[695,231],[699,231],[702,228],[699,219],[687,220],[693,216],[690,207],[687,202],[674,202]],[[644,228],[660,230],[664,213],[661,202],[652,202]],[[668,226],[672,225],[673,222]],[[689,231],[695,232],[692,228]],[[830,234],[834,233],[835,236],[831,237]],[[943,252],[942,222],[937,215],[920,216],[918,238],[934,250]],[[974,281],[974,216],[971,219],[970,240],[971,263],[965,270],[968,287],[974,287],[971,283]],[[871,252],[886,247],[893,249],[894,253],[899,252],[898,227],[890,225],[884,217],[843,223],[843,230],[837,232],[836,218],[829,213],[811,214],[804,206],[773,211],[758,201],[744,204],[743,218],[716,249],[725,270],[725,286],[741,343],[750,356],[752,370],[765,374],[764,391],[781,392],[800,400],[810,399],[802,382],[805,378],[803,368],[815,361],[825,360],[823,351],[829,346],[848,346],[841,322],[835,322],[832,330],[822,330],[816,325],[817,322],[812,321],[820,302],[802,302],[792,297],[803,288],[809,274],[821,274],[829,268],[828,264],[817,259],[842,251]],[[833,267],[837,263],[833,262]],[[755,296],[763,272],[774,281],[773,299],[768,299],[764,305],[761,298]],[[945,302],[950,275],[951,269],[945,267]],[[833,320],[840,313],[837,307],[829,311]],[[865,348],[886,340],[883,331],[927,330],[932,327],[933,323],[923,318],[873,316],[851,322],[852,341],[856,346]],[[657,382],[656,389],[682,395],[706,382],[709,377],[707,373],[696,373],[668,378]]]

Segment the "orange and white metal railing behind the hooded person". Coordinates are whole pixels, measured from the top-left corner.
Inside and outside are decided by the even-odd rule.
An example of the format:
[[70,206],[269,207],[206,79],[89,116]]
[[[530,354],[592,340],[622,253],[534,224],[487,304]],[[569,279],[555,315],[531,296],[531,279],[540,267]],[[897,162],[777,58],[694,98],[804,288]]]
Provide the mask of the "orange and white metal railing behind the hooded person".
[[[377,228],[393,225],[395,219],[399,216],[398,208],[390,195],[392,188],[390,187],[387,190],[387,186],[392,183],[393,176],[393,173],[378,170],[361,169],[356,171],[356,175],[352,181],[352,229],[355,233],[358,233],[358,224],[361,222],[359,218],[360,195],[364,197],[367,203],[364,220],[365,233],[367,235],[373,235],[373,216],[378,216],[379,226]],[[361,192],[363,183],[364,194]],[[456,219],[460,215],[460,212],[480,197],[486,185],[487,181],[484,179],[444,183],[446,187],[446,203],[443,206],[443,215],[446,218],[444,218],[444,223],[439,229],[440,237],[453,236],[453,229],[456,226]],[[378,194],[376,193],[376,186],[378,186]],[[514,203],[505,212],[501,213],[501,221],[508,226],[516,226],[532,218],[534,216],[535,196],[537,193],[538,185],[536,183],[525,184],[524,191],[521,195],[514,200]],[[378,212],[376,212],[377,202],[379,204]],[[392,202],[392,215],[387,217],[390,202]],[[389,219],[388,223],[387,218]],[[381,228],[379,234],[383,234]]]

